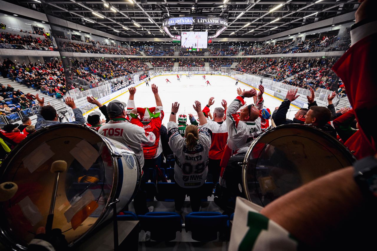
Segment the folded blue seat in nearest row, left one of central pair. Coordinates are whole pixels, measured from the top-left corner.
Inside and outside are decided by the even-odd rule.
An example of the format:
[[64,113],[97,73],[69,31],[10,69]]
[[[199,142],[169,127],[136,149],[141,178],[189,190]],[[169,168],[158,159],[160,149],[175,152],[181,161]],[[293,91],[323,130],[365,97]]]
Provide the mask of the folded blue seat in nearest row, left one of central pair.
[[172,241],[176,232],[182,231],[182,219],[177,213],[149,212],[138,215],[140,229],[150,231],[150,239],[155,241]]

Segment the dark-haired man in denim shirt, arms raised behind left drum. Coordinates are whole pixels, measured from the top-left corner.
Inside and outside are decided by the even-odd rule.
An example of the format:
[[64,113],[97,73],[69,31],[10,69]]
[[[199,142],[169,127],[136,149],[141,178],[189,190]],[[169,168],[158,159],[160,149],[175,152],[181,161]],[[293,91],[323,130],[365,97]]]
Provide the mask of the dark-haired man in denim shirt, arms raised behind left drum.
[[37,113],[37,124],[35,124],[35,130],[38,130],[42,127],[53,126],[56,124],[61,123],[70,123],[70,124],[79,124],[82,125],[85,123],[85,119],[83,116],[83,112],[76,107],[75,102],[72,98],[66,97],[65,103],[67,106],[72,108],[75,120],[72,122],[59,122],[58,121],[58,113],[56,112],[55,108],[52,106],[44,106],[44,98],[40,99],[39,95],[35,95],[39,103],[38,113]]

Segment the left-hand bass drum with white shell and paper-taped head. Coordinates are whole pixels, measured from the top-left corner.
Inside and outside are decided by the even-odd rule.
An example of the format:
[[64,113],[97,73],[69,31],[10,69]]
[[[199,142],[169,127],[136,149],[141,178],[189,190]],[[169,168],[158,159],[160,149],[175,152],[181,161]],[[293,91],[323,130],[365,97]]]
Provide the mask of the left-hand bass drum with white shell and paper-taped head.
[[58,124],[28,136],[2,163],[1,182],[14,182],[17,193],[1,203],[1,239],[26,249],[38,227],[46,225],[55,181],[51,164],[67,162],[60,174],[52,228],[60,228],[70,246],[109,219],[115,199],[121,211],[135,196],[141,168],[125,145],[92,129]]

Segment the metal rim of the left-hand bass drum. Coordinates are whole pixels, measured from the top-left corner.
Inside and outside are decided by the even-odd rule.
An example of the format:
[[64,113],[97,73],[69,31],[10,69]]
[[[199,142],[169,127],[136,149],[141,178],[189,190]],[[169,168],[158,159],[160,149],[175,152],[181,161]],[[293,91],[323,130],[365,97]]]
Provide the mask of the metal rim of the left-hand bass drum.
[[[107,148],[108,148],[108,150],[110,152],[110,155],[112,157],[112,162],[113,162],[113,165],[114,165],[115,173],[114,173],[114,176],[113,176],[113,185],[114,184],[115,185],[118,184],[118,178],[119,178],[119,174],[118,174],[119,170],[118,170],[118,168],[119,168],[119,166],[118,166],[118,161],[117,161],[116,157],[114,156],[115,152],[110,147],[111,141],[109,141],[106,137],[100,135],[97,131],[95,131],[93,129],[90,129],[87,126],[82,126],[82,125],[78,125],[78,124],[71,124],[71,123],[61,123],[61,124],[56,124],[56,125],[53,125],[53,126],[43,127],[41,129],[37,130],[37,132],[34,132],[32,135],[28,136],[26,138],[26,141],[22,142],[22,144],[16,145],[16,147],[13,148],[13,150],[11,152],[9,152],[9,154],[2,161],[1,167],[2,167],[3,171],[0,173],[0,181],[3,178],[3,176],[4,176],[6,170],[7,170],[8,166],[9,166],[9,163],[16,157],[16,155],[18,154],[18,152],[20,152],[20,150],[24,147],[25,144],[28,144],[29,141],[32,141],[34,138],[38,137],[40,134],[43,134],[44,132],[48,132],[51,129],[55,129],[55,128],[59,128],[59,127],[72,127],[72,128],[79,128],[79,129],[90,130],[95,135],[98,135],[101,139],[103,139],[104,143],[107,145]],[[6,166],[6,168],[4,168],[5,166]],[[104,208],[109,208],[109,204],[111,202],[113,202],[113,200],[114,200],[115,193],[116,193],[116,189],[114,189],[114,186],[112,186],[112,189],[111,189],[110,194],[109,194],[109,198],[107,199],[106,206]],[[107,211],[107,213],[106,213],[106,211]],[[72,245],[80,242],[81,239],[83,239],[84,237],[86,237],[98,225],[100,225],[102,223],[102,221],[104,219],[106,219],[107,215],[109,214],[109,211],[108,210],[106,210],[106,211],[103,212],[103,213],[101,213],[100,217],[98,217],[98,219],[96,220],[96,222],[93,223],[93,225],[83,235],[81,235],[80,237],[78,237],[76,240],[68,243],[69,246],[72,246]],[[12,248],[14,250],[19,250],[19,249],[21,249],[21,250],[27,250],[27,248],[28,248],[27,246],[20,245],[19,243],[15,243],[13,241],[14,239],[12,238],[12,235],[9,234],[9,229],[5,228],[6,225],[7,225],[6,218],[2,217],[2,219],[0,219],[0,233],[1,233],[0,234],[0,241],[1,241],[1,243],[3,243],[5,246],[10,247],[10,248]]]

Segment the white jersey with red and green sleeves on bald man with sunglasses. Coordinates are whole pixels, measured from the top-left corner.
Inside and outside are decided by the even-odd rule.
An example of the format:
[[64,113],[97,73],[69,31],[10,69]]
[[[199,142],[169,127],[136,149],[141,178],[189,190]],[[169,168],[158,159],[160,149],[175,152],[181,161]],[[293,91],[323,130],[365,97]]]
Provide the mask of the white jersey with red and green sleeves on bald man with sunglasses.
[[[263,97],[257,99],[256,108],[261,110],[263,107]],[[235,151],[244,145],[249,138],[254,138],[262,132],[261,118],[258,117],[255,121],[241,121],[237,115],[238,109],[245,104],[245,101],[240,96],[230,103],[226,116],[228,127],[228,147]]]

